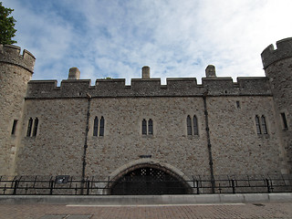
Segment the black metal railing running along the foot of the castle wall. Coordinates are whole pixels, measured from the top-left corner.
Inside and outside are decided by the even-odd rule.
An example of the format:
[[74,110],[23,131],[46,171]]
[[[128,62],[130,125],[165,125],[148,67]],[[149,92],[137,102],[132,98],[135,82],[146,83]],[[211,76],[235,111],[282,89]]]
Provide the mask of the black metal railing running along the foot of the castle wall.
[[[74,176],[0,176],[1,195],[101,195],[101,194],[204,194],[204,193],[292,193],[292,175],[192,176],[173,183],[153,179],[135,181],[99,180]],[[121,184],[122,183],[122,184]],[[119,184],[119,193],[113,193]],[[130,191],[130,193],[129,193]],[[183,191],[183,192],[182,192]]]

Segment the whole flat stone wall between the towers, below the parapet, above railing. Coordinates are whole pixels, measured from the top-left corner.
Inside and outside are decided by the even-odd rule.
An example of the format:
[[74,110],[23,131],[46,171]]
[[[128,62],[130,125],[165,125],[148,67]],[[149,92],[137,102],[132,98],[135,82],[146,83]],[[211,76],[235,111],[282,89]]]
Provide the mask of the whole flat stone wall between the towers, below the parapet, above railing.
[[[239,101],[240,108],[237,108]],[[18,174],[81,175],[88,99],[26,99]],[[281,172],[280,141],[270,96],[207,97],[214,174]],[[192,175],[210,175],[202,97],[92,98],[86,175],[107,179],[134,162],[167,163]],[[188,136],[186,117],[196,115],[199,136]],[[255,115],[265,115],[268,135],[258,136]],[[104,136],[93,136],[95,117]],[[39,119],[36,138],[25,137],[29,118]],[[141,121],[153,120],[153,135]],[[151,155],[151,159],[141,158]]]

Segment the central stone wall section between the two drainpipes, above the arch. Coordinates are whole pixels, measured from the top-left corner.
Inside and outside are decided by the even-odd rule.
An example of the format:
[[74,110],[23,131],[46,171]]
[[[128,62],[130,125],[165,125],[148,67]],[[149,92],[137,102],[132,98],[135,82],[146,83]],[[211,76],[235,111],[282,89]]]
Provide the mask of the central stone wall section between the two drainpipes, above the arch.
[[[209,174],[202,109],[202,98],[92,99],[87,174],[106,178],[141,155],[188,176]],[[197,116],[198,137],[187,136],[187,115]],[[92,136],[95,116],[105,118],[104,137]],[[143,119],[153,120],[153,136],[141,134]]]

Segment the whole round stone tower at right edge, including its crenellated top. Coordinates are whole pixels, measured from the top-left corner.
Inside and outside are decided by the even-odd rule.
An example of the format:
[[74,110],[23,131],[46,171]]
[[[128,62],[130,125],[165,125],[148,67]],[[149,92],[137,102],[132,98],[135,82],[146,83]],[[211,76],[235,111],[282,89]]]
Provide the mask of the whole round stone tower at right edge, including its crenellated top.
[[278,129],[287,172],[292,172],[292,37],[266,47],[261,54],[274,96]]

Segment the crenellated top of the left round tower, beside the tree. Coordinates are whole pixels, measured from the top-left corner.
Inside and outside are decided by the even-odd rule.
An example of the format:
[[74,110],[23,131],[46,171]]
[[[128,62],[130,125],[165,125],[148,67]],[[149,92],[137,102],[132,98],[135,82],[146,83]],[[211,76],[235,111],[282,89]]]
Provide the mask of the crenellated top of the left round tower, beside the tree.
[[20,54],[21,48],[13,45],[0,45],[0,62],[26,68],[26,70],[34,73],[36,57],[34,57],[26,49]]

